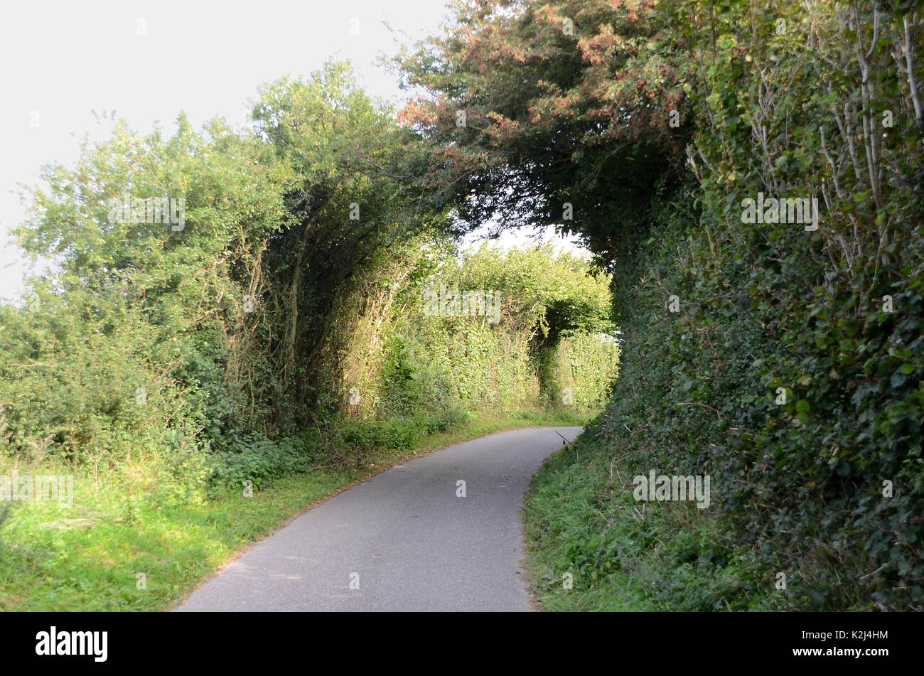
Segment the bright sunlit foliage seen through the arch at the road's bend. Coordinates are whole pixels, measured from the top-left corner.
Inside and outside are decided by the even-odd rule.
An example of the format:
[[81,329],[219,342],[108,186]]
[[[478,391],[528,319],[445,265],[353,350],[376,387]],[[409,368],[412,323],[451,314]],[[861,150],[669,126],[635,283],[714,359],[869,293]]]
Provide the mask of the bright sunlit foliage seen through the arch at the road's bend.
[[[369,384],[378,415],[561,405],[559,392],[569,386],[579,392],[578,408],[602,406],[618,364],[618,347],[597,337],[614,332],[606,275],[594,276],[586,260],[556,256],[551,245],[485,244],[461,260],[420,264],[438,272],[413,277],[395,301],[401,315],[383,346],[380,380]],[[447,314],[452,301],[444,298],[454,292],[487,293],[489,307]],[[469,308],[460,302],[459,309]]]

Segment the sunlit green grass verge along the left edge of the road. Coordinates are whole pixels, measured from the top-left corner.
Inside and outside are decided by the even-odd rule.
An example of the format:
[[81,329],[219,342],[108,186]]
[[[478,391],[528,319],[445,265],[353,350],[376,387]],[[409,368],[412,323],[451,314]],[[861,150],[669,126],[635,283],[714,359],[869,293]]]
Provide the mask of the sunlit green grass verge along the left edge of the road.
[[0,610],[168,610],[249,544],[395,463],[498,431],[584,420],[560,412],[481,416],[409,449],[376,449],[361,466],[275,478],[250,498],[223,489],[207,501],[154,506],[129,501],[123,487],[97,491],[88,477],[75,478],[73,507],[17,503],[0,525]]

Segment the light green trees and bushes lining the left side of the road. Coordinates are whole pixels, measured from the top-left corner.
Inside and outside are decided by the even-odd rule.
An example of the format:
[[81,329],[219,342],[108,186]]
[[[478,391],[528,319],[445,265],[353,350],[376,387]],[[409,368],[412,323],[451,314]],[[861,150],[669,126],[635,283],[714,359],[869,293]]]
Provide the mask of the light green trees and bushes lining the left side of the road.
[[[419,139],[345,64],[261,88],[252,117],[197,132],[181,115],[170,137],[117,122],[46,168],[18,241],[57,267],[0,305],[0,471],[75,473],[140,524],[539,409],[543,345],[611,325],[584,261],[457,260],[445,214],[406,189]],[[162,197],[183,223],[144,210]],[[144,212],[121,218],[123,199]],[[502,323],[426,316],[437,274],[498,289]]]

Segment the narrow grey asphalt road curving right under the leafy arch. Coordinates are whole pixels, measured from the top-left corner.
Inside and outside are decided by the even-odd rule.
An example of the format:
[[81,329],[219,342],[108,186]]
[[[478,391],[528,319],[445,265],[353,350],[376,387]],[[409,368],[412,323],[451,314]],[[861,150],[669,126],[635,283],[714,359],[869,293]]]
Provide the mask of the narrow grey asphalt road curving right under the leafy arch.
[[542,459],[562,447],[556,429],[568,440],[581,431],[502,432],[371,477],[262,540],[177,610],[530,610],[518,513]]

